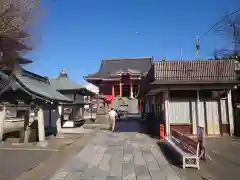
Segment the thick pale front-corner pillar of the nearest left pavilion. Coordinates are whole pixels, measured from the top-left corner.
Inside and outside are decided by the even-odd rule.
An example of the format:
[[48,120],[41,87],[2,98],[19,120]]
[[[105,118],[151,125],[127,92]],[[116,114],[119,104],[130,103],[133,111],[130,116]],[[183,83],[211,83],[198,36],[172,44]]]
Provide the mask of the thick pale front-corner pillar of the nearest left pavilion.
[[38,146],[45,147],[47,146],[47,141],[45,140],[45,128],[44,128],[44,114],[43,108],[40,107],[37,113],[38,118]]

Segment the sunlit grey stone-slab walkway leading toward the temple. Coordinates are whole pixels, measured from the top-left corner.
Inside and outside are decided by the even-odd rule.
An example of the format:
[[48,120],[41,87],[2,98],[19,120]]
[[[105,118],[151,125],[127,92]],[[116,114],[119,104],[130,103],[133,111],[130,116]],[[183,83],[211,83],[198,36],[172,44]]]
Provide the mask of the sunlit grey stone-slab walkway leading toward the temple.
[[155,140],[137,132],[100,131],[49,180],[180,180]]

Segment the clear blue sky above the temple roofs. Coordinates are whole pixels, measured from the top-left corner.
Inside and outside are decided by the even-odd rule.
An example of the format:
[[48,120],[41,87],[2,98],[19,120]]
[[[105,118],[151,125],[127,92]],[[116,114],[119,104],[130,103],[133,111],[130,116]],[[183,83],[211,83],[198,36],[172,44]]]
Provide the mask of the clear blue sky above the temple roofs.
[[239,0],[45,1],[48,12],[38,27],[36,47],[28,54],[34,63],[26,68],[52,78],[65,68],[79,83],[98,71],[103,58],[175,60],[182,48],[184,59],[195,59],[196,36],[200,57],[209,58],[214,48],[229,43],[205,32],[227,10],[240,8]]

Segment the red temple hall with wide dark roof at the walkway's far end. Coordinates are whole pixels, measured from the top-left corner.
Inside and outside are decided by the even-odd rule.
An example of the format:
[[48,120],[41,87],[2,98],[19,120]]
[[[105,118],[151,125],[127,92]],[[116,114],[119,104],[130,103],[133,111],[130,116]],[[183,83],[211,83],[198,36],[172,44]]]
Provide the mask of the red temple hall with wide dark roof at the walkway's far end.
[[115,97],[136,98],[139,82],[152,66],[152,57],[104,59],[98,72],[84,79],[112,101]]

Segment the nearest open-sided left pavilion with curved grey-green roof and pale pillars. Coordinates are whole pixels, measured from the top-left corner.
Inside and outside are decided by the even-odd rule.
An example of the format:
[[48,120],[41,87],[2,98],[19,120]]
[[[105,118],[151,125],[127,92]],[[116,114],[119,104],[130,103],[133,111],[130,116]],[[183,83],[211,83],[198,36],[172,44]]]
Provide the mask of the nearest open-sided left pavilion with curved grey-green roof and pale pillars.
[[[24,118],[24,142],[28,141],[28,132],[37,122],[39,145],[45,146],[44,111],[58,111],[57,105],[71,103],[72,100],[51,87],[49,79],[17,67],[11,71],[0,71],[0,134],[4,133],[4,122],[8,108],[16,107],[16,118]],[[24,107],[24,108],[18,108]],[[61,113],[57,116],[57,128],[60,128]]]

